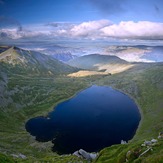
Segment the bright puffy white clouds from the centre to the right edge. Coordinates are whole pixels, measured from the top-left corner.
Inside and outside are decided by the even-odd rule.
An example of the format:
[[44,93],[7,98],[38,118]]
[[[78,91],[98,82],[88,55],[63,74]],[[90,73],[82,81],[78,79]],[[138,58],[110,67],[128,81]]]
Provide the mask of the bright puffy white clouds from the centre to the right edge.
[[121,39],[163,39],[163,23],[148,21],[122,21],[112,24],[108,20],[83,22],[75,25],[70,33],[73,37],[121,38]]

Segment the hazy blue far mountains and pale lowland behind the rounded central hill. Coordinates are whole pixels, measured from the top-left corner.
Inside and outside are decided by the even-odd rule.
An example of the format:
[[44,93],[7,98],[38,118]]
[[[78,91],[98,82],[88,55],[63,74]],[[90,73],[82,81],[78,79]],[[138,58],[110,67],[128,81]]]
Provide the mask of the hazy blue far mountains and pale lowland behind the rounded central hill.
[[[45,50],[38,50],[41,53],[52,55],[54,58],[67,62],[76,57],[89,54],[104,54],[117,56],[128,62],[163,62],[163,46],[146,45],[108,45],[95,44],[82,48],[65,48],[62,46],[45,46]],[[76,45],[74,45],[75,47]],[[78,45],[80,47],[80,44]],[[82,46],[82,44],[81,44]]]

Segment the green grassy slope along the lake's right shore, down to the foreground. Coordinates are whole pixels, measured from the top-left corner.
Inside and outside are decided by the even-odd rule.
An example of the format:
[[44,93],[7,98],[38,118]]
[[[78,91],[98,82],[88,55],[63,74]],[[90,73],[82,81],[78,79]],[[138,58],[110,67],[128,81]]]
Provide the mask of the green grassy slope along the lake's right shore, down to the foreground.
[[161,162],[163,140],[152,146],[152,151],[139,158],[147,147],[141,147],[145,140],[157,139],[163,131],[163,64],[139,64],[121,74],[104,77],[99,85],[110,85],[129,96],[139,106],[142,119],[134,138],[127,145],[115,145],[100,152],[97,162],[125,162],[128,151],[129,162]]

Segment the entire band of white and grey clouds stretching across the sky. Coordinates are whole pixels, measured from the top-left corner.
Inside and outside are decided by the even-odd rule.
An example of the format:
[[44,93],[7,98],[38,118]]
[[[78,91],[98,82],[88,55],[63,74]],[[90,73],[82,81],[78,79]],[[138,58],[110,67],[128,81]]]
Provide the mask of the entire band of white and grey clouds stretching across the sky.
[[8,38],[85,38],[85,39],[163,39],[163,23],[148,21],[122,21],[119,24],[113,24],[109,20],[97,20],[74,23],[55,23],[50,25],[30,25],[23,28],[22,31],[17,29],[0,29],[0,38],[7,35]]

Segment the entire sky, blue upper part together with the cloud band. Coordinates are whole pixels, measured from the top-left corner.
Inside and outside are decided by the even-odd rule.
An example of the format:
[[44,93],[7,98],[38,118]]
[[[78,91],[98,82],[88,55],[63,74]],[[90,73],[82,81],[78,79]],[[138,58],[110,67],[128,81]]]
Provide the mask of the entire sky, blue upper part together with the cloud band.
[[163,0],[0,0],[0,40],[163,40]]

